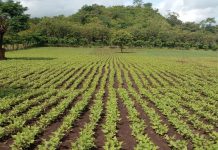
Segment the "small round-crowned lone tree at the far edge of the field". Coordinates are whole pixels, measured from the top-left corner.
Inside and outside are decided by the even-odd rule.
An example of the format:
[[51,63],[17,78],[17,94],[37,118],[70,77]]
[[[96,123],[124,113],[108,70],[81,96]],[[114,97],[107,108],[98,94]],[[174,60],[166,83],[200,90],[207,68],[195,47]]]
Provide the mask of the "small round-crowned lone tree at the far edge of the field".
[[117,31],[112,36],[112,44],[119,46],[121,53],[125,46],[128,46],[132,43],[132,35],[124,30]]

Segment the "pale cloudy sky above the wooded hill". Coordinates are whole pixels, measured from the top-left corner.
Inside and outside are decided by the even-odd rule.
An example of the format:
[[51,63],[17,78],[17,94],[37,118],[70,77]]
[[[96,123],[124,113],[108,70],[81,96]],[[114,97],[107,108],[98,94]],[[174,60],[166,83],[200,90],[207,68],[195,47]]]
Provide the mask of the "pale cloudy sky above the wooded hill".
[[[131,5],[133,0],[16,0],[29,8],[32,17],[71,15],[83,5]],[[183,21],[201,21],[215,17],[218,22],[218,0],[144,0],[153,3],[161,14],[175,11]]]

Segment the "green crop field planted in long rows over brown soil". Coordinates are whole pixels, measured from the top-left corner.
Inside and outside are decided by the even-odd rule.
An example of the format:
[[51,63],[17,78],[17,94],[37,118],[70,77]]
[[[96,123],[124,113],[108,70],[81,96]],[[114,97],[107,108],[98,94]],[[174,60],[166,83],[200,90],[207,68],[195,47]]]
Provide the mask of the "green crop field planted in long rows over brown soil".
[[218,149],[218,53],[36,48],[0,62],[0,150]]

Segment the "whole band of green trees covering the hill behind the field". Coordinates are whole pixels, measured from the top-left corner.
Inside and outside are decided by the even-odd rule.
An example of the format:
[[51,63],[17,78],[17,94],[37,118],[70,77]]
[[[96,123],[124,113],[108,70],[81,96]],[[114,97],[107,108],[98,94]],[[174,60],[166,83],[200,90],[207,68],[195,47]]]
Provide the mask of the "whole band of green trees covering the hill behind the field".
[[214,18],[182,22],[175,12],[162,16],[141,0],[132,6],[85,5],[71,16],[29,18],[26,10],[19,2],[0,0],[1,51],[33,46],[218,49]]

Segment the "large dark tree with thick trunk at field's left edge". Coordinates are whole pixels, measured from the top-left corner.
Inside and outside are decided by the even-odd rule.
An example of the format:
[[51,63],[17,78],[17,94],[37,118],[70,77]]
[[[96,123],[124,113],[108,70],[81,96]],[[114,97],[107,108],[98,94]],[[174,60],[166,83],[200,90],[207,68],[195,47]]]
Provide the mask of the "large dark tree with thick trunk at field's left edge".
[[0,0],[0,60],[5,58],[5,49],[3,48],[3,37],[8,34],[16,34],[28,28],[29,15],[24,14],[27,10],[20,2]]

